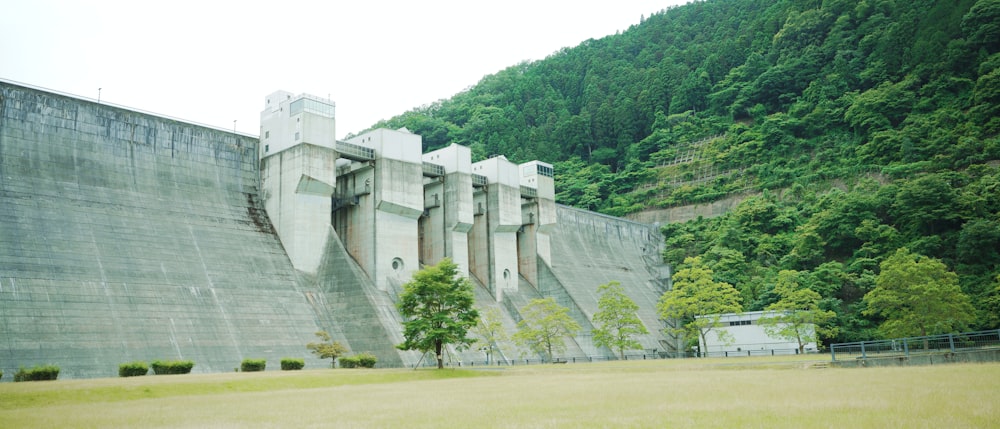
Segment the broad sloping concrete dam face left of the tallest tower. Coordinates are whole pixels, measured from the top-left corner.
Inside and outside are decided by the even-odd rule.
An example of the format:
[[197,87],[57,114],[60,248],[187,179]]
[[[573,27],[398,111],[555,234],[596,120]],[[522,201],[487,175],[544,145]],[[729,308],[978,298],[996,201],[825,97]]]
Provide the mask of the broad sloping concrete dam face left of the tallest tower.
[[304,347],[325,310],[264,213],[256,139],[6,83],[0,97],[5,373],[328,365]]

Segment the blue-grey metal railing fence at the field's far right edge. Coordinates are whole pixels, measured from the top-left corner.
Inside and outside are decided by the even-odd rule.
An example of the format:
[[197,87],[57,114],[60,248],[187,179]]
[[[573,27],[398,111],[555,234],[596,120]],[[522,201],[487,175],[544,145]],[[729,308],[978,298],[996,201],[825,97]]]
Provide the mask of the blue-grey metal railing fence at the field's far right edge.
[[1000,329],[830,345],[830,358],[868,359],[1000,348]]

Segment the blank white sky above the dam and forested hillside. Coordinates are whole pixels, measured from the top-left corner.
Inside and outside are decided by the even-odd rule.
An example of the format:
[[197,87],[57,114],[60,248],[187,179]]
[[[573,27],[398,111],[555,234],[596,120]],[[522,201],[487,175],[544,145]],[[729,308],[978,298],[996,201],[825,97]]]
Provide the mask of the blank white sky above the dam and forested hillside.
[[337,137],[687,0],[0,0],[0,78],[259,134],[275,90]]

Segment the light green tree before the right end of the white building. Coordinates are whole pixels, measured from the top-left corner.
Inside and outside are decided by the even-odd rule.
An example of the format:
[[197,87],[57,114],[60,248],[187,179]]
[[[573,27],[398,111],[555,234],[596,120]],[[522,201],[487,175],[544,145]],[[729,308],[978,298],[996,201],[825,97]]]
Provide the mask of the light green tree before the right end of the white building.
[[[801,287],[798,275],[797,271],[791,270],[782,270],[778,273],[774,293],[780,299],[767,306],[767,310],[776,312],[776,315],[762,318],[760,323],[768,335],[796,341],[801,354],[805,352],[807,343],[816,342],[817,347],[820,345],[819,334],[824,332],[822,326],[837,315],[819,308],[822,299],[819,293]],[[833,334],[835,331],[830,331],[827,335]]]

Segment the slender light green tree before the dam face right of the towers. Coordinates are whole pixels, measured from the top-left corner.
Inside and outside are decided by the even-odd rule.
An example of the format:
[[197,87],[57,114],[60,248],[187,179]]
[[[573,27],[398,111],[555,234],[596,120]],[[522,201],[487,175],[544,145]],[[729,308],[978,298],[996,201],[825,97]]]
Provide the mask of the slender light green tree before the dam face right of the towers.
[[601,297],[597,300],[594,314],[594,343],[618,351],[618,357],[625,359],[625,350],[641,348],[636,335],[648,334],[636,311],[639,305],[625,295],[621,283],[611,282],[597,287]]

